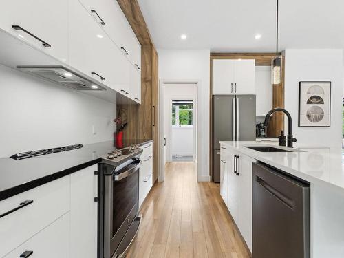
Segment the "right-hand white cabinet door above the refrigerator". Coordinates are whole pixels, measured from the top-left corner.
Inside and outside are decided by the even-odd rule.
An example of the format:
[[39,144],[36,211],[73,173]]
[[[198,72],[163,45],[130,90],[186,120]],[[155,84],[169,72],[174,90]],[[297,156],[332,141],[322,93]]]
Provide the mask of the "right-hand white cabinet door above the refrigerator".
[[255,60],[235,60],[235,94],[255,94]]

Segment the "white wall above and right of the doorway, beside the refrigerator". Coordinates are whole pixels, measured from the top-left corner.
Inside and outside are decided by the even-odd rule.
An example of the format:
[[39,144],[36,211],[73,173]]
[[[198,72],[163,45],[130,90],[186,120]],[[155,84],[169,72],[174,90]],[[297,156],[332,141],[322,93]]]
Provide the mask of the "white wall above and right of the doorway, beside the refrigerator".
[[197,180],[209,181],[210,50],[158,50],[160,80],[197,80]]

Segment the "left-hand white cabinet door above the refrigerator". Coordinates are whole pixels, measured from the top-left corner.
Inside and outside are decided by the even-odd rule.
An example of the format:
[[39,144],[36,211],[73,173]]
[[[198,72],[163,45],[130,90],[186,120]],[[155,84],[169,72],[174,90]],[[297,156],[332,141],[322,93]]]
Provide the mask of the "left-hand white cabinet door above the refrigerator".
[[234,94],[234,67],[235,60],[213,60],[213,95]]

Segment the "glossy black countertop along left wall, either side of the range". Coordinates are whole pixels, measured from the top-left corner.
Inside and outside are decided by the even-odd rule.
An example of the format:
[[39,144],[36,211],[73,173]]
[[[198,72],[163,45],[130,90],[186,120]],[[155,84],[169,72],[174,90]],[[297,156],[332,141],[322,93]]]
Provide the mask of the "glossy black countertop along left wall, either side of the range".
[[[151,141],[133,139],[123,143],[124,147],[128,147]],[[103,155],[114,149],[114,142],[109,141],[24,160],[0,158],[0,201],[97,164]]]

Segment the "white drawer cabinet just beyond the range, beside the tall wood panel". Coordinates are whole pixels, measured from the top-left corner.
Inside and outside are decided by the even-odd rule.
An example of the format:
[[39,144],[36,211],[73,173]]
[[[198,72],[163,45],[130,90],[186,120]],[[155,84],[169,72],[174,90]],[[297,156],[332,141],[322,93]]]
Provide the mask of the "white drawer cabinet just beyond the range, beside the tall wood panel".
[[140,148],[144,151],[141,154],[142,161],[140,167],[140,182],[139,182],[139,203],[140,206],[147,197],[151,187],[153,186],[153,149],[152,142],[144,144]]

